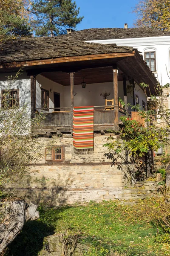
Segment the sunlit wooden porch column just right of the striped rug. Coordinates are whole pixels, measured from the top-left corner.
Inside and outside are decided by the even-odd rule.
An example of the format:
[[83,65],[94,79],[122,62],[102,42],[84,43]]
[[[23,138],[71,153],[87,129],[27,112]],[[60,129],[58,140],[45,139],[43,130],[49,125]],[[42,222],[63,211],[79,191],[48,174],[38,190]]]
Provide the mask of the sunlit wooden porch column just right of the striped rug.
[[114,99],[114,126],[119,129],[119,101],[118,101],[118,77],[117,68],[113,67],[113,99]]

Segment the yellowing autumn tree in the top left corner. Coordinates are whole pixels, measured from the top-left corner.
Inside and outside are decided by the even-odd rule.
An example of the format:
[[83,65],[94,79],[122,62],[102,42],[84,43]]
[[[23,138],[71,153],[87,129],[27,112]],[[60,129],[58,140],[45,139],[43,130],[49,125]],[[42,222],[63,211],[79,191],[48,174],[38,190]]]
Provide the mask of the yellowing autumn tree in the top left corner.
[[0,40],[31,35],[29,0],[0,0]]

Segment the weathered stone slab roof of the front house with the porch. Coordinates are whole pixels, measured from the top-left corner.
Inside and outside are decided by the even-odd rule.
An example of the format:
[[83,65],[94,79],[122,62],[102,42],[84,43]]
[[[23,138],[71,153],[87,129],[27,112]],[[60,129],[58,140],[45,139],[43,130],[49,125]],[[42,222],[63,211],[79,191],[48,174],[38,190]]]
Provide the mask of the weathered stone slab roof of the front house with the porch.
[[0,63],[13,61],[41,60],[49,58],[133,52],[132,47],[115,44],[96,44],[67,39],[65,37],[24,38],[6,41],[0,47]]

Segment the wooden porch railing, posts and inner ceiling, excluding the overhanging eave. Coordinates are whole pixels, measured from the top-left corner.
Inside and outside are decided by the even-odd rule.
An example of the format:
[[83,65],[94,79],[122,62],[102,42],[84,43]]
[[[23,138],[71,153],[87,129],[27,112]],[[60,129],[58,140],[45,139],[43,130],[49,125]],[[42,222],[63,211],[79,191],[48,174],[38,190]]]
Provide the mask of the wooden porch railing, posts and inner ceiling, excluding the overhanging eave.
[[[119,129],[119,117],[120,116],[126,116],[127,115],[127,90],[126,90],[126,81],[127,77],[119,70],[120,78],[123,81],[123,94],[124,94],[124,102],[125,106],[122,108],[122,105],[120,105],[120,102],[118,100],[118,68],[115,65],[114,67],[106,67],[102,69],[86,69],[82,72],[86,72],[86,77],[88,77],[88,83],[90,84],[92,81],[90,79],[94,79],[94,76],[89,72],[91,70],[94,70],[94,74],[96,73],[96,82],[99,83],[102,80],[105,81],[106,78],[112,82],[112,88],[113,88],[113,99],[108,100],[111,103],[107,104],[107,101],[105,100],[105,105],[100,106],[94,106],[94,131],[101,131],[101,130],[118,130]],[[99,72],[103,71],[102,78],[99,77]],[[111,76],[112,73],[112,76]],[[50,78],[50,74],[46,73],[44,74],[45,77]],[[55,75],[55,73],[54,73]],[[54,76],[53,75],[53,76]],[[69,75],[69,76],[68,76]],[[105,75],[105,76],[104,76]],[[43,113],[45,115],[45,119],[42,121],[41,126],[42,129],[46,132],[56,132],[56,131],[63,131],[63,132],[71,132],[73,130],[73,110],[75,106],[75,98],[74,98],[74,87],[75,84],[80,84],[80,79],[82,75],[79,75],[79,73],[58,73],[55,75],[57,79],[62,79],[62,84],[70,85],[70,107],[61,107],[61,108],[48,108],[48,112],[43,111],[41,108],[36,108],[38,112],[41,113],[41,111],[45,112]],[[55,79],[55,76],[52,80]],[[66,78],[65,78],[66,77]],[[35,91],[35,76],[31,76],[31,84],[33,88],[32,97],[34,96]],[[77,81],[78,80],[78,81]],[[58,81],[58,80],[57,80]],[[102,81],[102,82],[103,82]],[[107,80],[106,80],[107,81]],[[94,82],[94,81],[93,81]],[[83,90],[83,89],[82,89]],[[34,99],[32,99],[32,102],[35,102]],[[93,104],[91,104],[93,105]],[[76,105],[77,106],[77,105]],[[33,108],[32,108],[33,110]]]

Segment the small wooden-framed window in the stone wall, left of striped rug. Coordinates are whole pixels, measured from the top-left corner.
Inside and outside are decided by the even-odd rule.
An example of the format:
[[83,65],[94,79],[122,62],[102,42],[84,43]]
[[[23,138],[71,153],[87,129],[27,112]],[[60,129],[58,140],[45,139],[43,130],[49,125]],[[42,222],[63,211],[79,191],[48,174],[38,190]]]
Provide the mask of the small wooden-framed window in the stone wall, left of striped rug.
[[45,161],[62,162],[64,160],[64,147],[54,146],[51,149],[45,148]]

